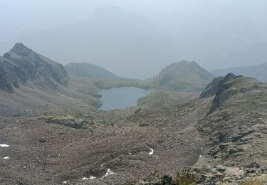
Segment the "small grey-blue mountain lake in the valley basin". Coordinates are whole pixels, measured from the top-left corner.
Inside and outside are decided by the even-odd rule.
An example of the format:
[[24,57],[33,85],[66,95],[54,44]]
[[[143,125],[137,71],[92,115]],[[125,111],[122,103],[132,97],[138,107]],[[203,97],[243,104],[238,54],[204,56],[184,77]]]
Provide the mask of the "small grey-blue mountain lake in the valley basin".
[[100,110],[125,109],[136,106],[137,99],[148,95],[148,90],[132,87],[111,88],[100,91],[103,105]]

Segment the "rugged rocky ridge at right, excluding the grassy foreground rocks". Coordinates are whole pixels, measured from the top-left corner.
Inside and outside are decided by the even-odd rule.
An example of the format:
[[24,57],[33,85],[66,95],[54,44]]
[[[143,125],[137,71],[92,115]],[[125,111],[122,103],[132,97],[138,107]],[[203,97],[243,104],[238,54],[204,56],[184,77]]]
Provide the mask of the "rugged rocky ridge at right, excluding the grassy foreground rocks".
[[266,90],[265,83],[233,74],[208,85],[202,97],[215,97],[197,126],[208,137],[207,156],[227,165],[245,166],[255,159],[267,166]]

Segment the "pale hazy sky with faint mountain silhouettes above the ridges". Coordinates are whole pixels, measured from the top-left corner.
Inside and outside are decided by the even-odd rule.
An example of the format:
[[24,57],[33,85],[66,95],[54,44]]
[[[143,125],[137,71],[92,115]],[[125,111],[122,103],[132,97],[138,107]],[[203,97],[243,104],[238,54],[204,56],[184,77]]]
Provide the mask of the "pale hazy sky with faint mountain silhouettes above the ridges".
[[207,70],[267,62],[265,0],[0,0],[0,52],[16,42],[60,63],[148,78],[169,63]]

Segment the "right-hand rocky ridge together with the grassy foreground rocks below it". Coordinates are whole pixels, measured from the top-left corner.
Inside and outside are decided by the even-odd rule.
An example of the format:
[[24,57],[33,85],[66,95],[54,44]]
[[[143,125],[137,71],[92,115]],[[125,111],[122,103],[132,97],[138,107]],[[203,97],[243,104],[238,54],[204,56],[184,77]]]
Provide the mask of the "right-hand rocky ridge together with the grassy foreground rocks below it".
[[203,142],[198,162],[172,176],[155,171],[135,184],[266,184],[266,88],[234,74],[214,79],[199,99],[207,110],[194,125]]

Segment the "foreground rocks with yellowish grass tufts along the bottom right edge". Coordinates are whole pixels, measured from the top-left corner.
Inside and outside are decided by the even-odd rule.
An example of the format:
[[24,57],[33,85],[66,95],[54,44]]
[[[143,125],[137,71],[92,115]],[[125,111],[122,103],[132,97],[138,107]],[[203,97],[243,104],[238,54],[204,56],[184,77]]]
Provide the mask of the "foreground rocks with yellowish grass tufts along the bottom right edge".
[[[176,176],[159,176],[157,171],[136,183],[136,185],[179,185],[179,184],[263,184],[267,181],[266,169],[251,163],[246,168],[238,166],[197,166],[184,168]],[[133,184],[134,185],[134,184]]]

